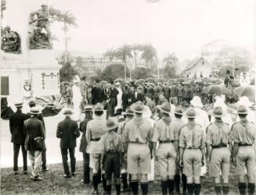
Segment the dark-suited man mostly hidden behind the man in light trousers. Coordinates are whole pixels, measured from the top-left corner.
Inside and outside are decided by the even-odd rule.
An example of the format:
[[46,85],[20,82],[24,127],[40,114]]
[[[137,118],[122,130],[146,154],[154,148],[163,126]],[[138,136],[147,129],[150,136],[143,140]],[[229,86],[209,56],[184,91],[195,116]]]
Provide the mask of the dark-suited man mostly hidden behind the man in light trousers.
[[[35,101],[31,100],[31,101],[29,101],[28,105],[29,105],[30,108],[34,108],[36,103],[35,103]],[[31,113],[30,112],[28,112],[27,115],[29,116],[29,118],[31,117]],[[42,124],[44,126],[44,129],[45,129],[44,116],[41,113],[39,113],[37,115],[37,118],[38,118],[38,120],[40,120],[42,122]],[[45,133],[45,135],[46,135],[46,133]],[[42,151],[41,151],[41,171],[42,172],[47,172],[47,171],[49,171],[49,168],[47,168],[47,166],[46,166],[46,145],[45,145],[45,140],[42,140],[42,143],[43,143],[43,148],[42,148]]]

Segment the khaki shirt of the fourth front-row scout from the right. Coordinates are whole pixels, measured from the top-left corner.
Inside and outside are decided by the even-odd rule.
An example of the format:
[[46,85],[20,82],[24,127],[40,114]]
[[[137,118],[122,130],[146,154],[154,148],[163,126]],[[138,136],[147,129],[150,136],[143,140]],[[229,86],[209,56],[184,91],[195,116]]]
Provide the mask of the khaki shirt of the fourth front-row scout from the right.
[[175,137],[177,134],[175,133],[175,122],[170,117],[163,117],[155,123],[152,141],[175,141],[178,139]]

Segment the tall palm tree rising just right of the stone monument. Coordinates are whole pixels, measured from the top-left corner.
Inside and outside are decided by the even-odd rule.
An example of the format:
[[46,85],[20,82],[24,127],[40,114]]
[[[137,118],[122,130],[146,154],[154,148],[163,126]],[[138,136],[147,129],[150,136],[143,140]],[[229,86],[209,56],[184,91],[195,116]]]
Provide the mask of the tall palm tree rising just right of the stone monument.
[[71,26],[78,27],[76,18],[69,11],[63,11],[56,14],[56,20],[63,23],[63,31],[65,35],[65,63],[67,62],[67,32]]

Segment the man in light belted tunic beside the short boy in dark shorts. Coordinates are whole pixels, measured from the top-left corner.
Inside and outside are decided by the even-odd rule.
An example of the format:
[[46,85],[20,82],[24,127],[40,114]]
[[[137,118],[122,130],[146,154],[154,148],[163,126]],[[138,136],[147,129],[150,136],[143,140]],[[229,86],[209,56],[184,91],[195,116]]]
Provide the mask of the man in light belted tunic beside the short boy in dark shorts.
[[[101,147],[99,144],[100,138],[106,133],[106,119],[103,118],[103,105],[97,103],[93,107],[95,118],[87,123],[86,126],[86,141],[88,143],[86,152],[90,154],[89,166],[92,168],[92,183],[94,188],[94,194],[99,194],[98,183],[99,183],[99,170],[100,170],[100,159],[101,159]],[[106,178],[103,176],[103,188],[106,190]]]

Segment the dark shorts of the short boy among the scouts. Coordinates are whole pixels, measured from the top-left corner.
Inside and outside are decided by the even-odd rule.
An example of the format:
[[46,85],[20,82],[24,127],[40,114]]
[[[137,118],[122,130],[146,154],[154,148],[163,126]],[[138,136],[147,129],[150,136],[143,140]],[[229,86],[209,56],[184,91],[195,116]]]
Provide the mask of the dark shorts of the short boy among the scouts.
[[104,169],[106,179],[120,178],[120,155],[117,152],[106,153],[104,160]]

